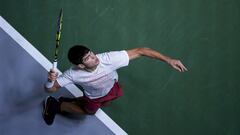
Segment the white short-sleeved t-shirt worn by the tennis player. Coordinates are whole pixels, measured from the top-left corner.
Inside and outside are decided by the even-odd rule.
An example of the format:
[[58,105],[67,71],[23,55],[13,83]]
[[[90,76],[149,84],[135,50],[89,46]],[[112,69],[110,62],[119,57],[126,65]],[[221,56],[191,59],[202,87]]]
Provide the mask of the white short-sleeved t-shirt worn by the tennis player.
[[100,98],[108,94],[115,80],[118,80],[117,69],[128,66],[129,57],[125,50],[112,51],[96,55],[99,65],[93,72],[71,67],[57,78],[61,87],[68,84],[80,85],[85,96],[90,99]]

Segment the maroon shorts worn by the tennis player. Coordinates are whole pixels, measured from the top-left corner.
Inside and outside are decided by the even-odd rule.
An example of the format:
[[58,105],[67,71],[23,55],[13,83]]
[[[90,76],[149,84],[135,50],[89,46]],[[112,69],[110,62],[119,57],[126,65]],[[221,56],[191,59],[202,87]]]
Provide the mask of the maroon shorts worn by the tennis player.
[[94,114],[97,110],[109,103],[110,101],[117,99],[122,96],[122,88],[118,82],[115,82],[112,89],[108,92],[108,94],[104,97],[97,99],[90,99],[86,96],[80,97],[81,107],[86,113]]

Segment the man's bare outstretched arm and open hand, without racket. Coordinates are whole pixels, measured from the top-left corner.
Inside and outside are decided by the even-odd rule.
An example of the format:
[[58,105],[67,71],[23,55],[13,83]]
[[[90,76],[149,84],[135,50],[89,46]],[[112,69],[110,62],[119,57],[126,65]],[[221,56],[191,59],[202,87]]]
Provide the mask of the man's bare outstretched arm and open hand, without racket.
[[146,57],[164,61],[169,65],[171,65],[174,69],[178,70],[179,72],[187,71],[187,68],[182,64],[180,60],[172,59],[150,48],[145,48],[145,47],[135,48],[135,49],[127,50],[127,53],[130,60],[139,58],[140,56],[146,56]]

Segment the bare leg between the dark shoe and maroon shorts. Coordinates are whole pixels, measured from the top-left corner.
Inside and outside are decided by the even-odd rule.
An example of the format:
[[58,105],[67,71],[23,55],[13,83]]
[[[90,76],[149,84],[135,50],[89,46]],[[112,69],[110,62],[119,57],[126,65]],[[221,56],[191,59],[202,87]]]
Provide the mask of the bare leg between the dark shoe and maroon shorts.
[[62,102],[61,112],[68,112],[73,114],[86,114],[84,110],[74,102]]

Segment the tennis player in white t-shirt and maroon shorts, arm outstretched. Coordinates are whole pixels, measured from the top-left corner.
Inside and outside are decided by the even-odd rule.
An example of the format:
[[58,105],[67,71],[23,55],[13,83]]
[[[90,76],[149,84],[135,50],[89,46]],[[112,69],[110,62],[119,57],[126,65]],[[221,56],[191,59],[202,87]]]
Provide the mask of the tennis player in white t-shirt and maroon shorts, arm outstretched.
[[51,125],[55,115],[62,112],[95,114],[106,103],[122,96],[116,70],[128,66],[129,61],[140,56],[161,60],[179,72],[187,71],[180,60],[172,59],[150,48],[111,51],[95,55],[83,45],[73,46],[68,52],[68,59],[73,66],[60,76],[54,70],[50,70],[45,88],[48,92],[56,92],[60,87],[77,84],[82,86],[84,95],[77,98],[47,97],[43,108],[45,122]]

